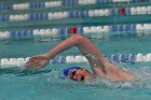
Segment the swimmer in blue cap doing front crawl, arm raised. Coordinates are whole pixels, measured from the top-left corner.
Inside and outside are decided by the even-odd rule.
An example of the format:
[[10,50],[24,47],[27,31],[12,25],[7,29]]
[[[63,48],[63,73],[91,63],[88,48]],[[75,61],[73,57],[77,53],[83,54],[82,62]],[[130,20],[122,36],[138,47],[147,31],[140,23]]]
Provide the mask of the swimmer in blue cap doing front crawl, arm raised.
[[41,69],[47,65],[53,57],[73,46],[77,46],[85,56],[93,72],[77,66],[69,67],[63,71],[66,77],[77,82],[85,82],[86,80],[95,76],[101,76],[112,82],[134,80],[133,75],[107,60],[102,53],[86,38],[82,37],[81,34],[76,34],[76,29],[72,29],[71,37],[60,42],[51,52],[31,57],[29,61],[26,62],[25,67],[27,69]]

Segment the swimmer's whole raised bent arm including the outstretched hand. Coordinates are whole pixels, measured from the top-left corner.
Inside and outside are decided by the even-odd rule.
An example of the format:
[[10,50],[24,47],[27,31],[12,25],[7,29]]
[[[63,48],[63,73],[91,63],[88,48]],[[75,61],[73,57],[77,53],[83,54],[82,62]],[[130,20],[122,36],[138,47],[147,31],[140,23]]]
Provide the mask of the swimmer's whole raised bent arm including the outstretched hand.
[[93,43],[91,43],[86,38],[80,34],[72,34],[71,37],[56,45],[51,52],[31,57],[25,65],[25,67],[28,69],[41,69],[46,63],[49,63],[50,59],[73,46],[77,46],[79,51],[86,57],[94,74],[104,75],[105,73],[107,73],[106,65],[108,63],[108,61],[106,60],[104,55]]

